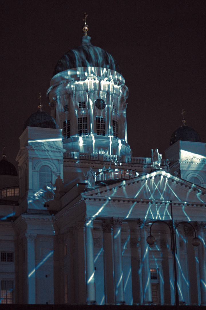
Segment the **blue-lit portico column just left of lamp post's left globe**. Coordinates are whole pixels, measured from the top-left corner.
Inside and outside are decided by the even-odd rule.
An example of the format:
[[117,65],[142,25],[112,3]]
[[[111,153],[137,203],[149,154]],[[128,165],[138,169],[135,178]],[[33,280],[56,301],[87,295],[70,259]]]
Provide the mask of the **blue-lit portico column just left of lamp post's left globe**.
[[148,229],[143,226],[140,229],[140,244],[141,244],[141,269],[142,269],[142,289],[143,289],[143,302],[151,303],[152,290],[151,290],[151,275],[149,263],[149,244],[146,239],[148,237]]

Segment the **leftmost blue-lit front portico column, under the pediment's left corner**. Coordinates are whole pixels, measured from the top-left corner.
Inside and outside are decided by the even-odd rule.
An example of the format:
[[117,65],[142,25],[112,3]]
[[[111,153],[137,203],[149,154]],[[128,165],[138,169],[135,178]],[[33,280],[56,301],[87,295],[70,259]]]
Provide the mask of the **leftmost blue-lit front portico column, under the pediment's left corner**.
[[96,301],[95,294],[95,263],[94,263],[94,241],[93,221],[88,220],[85,224],[86,240],[86,303]]

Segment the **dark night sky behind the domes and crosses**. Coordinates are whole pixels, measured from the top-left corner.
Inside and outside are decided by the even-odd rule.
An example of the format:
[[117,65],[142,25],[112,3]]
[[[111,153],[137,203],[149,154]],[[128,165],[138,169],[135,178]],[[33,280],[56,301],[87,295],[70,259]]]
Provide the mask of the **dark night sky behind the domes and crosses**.
[[[86,3],[86,4],[85,4]],[[13,1],[1,5],[1,139],[16,167],[24,122],[38,106],[59,58],[82,40],[87,12],[91,43],[120,65],[133,156],[162,153],[186,125],[206,142],[205,1]]]

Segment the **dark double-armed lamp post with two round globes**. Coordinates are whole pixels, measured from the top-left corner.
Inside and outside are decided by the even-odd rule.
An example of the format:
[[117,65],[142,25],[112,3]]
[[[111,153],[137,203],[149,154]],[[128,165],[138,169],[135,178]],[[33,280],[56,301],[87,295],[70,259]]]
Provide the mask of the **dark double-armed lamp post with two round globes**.
[[[176,307],[179,310],[179,294],[178,294],[178,287],[177,287],[177,265],[176,265],[176,256],[175,254],[177,254],[177,248],[176,248],[176,228],[179,224],[183,224],[183,223],[187,223],[189,225],[191,225],[191,227],[193,228],[194,232],[195,232],[195,237],[192,240],[192,245],[193,246],[199,246],[200,245],[200,239],[196,236],[196,231],[194,226],[190,223],[190,222],[185,222],[182,221],[180,223],[178,223],[175,227],[174,227],[174,222],[173,222],[173,214],[172,214],[172,201],[170,200],[170,209],[171,209],[171,222],[170,224],[168,224],[166,221],[164,220],[156,220],[152,223],[158,223],[158,222],[163,222],[165,223],[169,228],[170,228],[170,238],[171,238],[171,247],[172,247],[172,254],[173,254],[173,263],[174,263],[174,282],[175,282],[175,303],[176,303]],[[152,225],[150,226],[149,229],[149,236],[147,237],[146,241],[149,245],[153,245],[155,242],[155,237],[153,237],[151,235],[151,228]]]

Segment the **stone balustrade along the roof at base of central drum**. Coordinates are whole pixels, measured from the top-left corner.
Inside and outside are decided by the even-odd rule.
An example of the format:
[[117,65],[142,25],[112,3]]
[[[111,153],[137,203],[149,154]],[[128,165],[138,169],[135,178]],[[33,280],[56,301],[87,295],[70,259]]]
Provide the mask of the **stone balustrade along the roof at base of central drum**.
[[[96,153],[89,154],[89,153],[69,152],[64,153],[64,158],[151,165],[151,157],[132,157],[126,155],[119,156],[119,155],[96,154]],[[167,164],[168,164],[167,160],[162,160],[161,166],[166,166]]]

